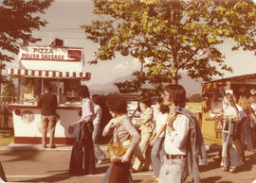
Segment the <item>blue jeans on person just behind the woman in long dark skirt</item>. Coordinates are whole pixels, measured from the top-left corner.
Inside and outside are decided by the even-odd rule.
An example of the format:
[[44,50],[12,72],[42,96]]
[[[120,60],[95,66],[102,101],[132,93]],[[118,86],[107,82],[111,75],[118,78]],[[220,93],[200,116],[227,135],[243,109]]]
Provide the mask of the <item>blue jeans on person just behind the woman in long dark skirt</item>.
[[94,155],[95,155],[95,158],[97,158],[97,160],[103,160],[106,157],[98,144],[100,135],[101,135],[101,125],[94,124],[92,138],[93,138]]

